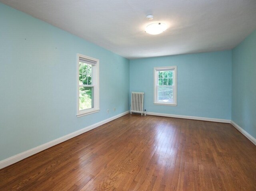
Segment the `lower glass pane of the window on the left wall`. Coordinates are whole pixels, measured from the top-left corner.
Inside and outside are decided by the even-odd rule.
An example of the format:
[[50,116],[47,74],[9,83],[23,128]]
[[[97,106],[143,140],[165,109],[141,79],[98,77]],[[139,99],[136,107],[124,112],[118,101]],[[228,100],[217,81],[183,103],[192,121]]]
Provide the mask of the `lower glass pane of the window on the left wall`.
[[93,108],[93,87],[79,87],[79,110]]

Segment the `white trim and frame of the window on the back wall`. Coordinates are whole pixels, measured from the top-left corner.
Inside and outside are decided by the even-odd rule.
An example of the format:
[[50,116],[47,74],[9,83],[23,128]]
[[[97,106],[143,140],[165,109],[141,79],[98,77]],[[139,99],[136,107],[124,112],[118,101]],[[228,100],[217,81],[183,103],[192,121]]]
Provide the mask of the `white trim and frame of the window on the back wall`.
[[[156,72],[158,70],[174,70],[174,75],[173,75],[173,80],[174,80],[174,102],[173,103],[157,101],[157,90],[156,90],[157,75],[156,75]],[[154,104],[155,105],[177,106],[177,66],[154,67]]]

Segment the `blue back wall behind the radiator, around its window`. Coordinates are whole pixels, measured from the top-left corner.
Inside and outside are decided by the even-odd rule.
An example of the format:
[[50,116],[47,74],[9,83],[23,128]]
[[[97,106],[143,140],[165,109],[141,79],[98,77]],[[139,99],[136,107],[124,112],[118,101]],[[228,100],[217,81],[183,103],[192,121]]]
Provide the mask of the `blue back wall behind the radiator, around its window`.
[[[177,106],[153,104],[153,68],[177,66]],[[130,92],[143,91],[148,112],[231,119],[231,51],[130,61]]]

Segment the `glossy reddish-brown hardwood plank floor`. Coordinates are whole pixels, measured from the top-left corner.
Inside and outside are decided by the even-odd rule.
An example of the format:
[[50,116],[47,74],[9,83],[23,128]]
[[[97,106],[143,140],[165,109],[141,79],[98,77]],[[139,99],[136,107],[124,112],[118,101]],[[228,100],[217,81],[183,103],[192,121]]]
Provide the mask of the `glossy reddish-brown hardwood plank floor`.
[[230,124],[127,114],[0,170],[0,190],[255,191],[256,146]]

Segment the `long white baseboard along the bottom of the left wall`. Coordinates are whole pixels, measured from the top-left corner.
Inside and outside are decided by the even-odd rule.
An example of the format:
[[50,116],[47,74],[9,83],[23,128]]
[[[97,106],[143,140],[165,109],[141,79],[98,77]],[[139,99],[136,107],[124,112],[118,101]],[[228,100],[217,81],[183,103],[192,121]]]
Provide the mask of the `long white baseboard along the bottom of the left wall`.
[[82,128],[82,129],[80,129],[78,131],[75,131],[75,132],[70,133],[68,135],[65,135],[63,137],[60,137],[58,139],[52,140],[52,141],[50,141],[48,143],[42,144],[40,146],[37,146],[35,148],[32,148],[32,149],[27,150],[25,152],[22,152],[20,154],[16,154],[16,155],[14,155],[14,156],[12,156],[10,158],[4,159],[4,160],[0,161],[0,169],[4,168],[6,166],[9,166],[9,165],[11,165],[13,163],[16,163],[16,162],[18,162],[18,161],[20,161],[20,160],[22,160],[24,158],[28,158],[29,156],[32,156],[32,155],[34,155],[34,154],[36,154],[38,152],[46,150],[46,149],[48,149],[48,148],[50,148],[50,147],[52,147],[54,145],[60,144],[60,143],[62,143],[64,141],[69,140],[69,139],[71,139],[71,138],[73,138],[75,136],[78,136],[78,135],[82,134],[82,133],[90,131],[90,130],[98,127],[98,126],[101,126],[101,125],[103,125],[105,123],[108,123],[108,122],[110,122],[112,120],[115,120],[115,119],[117,119],[119,117],[122,117],[122,116],[124,116],[124,115],[126,115],[128,113],[129,113],[129,111],[123,112],[123,113],[118,114],[116,116],[110,117],[110,118],[108,118],[106,120],[100,121],[100,122],[92,124],[90,126],[87,126],[86,128]]

